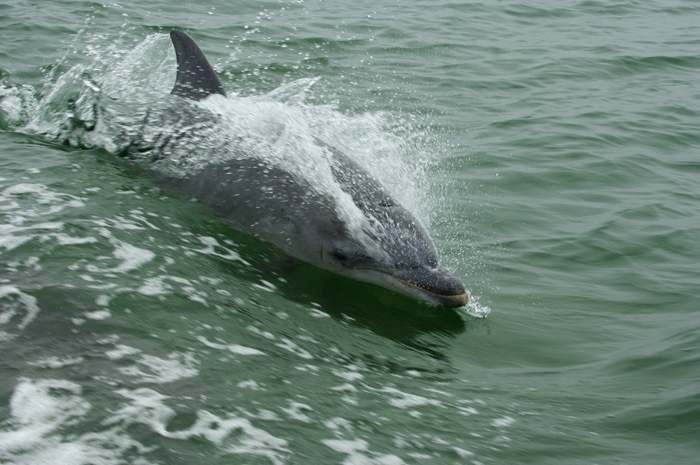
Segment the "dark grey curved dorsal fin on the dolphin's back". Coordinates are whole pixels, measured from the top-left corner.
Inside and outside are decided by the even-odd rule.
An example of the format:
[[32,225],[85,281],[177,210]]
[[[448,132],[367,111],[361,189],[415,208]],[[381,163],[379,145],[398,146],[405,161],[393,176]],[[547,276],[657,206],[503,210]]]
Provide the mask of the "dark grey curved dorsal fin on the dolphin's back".
[[182,31],[172,30],[177,55],[177,78],[172,95],[191,100],[203,100],[212,94],[226,96],[221,81],[194,40]]

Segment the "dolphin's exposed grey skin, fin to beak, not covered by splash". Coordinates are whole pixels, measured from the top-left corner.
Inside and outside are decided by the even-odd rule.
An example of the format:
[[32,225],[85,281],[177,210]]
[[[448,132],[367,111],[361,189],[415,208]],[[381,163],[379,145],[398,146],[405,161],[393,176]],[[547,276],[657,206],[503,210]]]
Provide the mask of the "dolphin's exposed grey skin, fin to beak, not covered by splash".
[[[171,94],[193,102],[226,96],[195,42],[178,30],[170,38],[178,65]],[[356,162],[318,138],[314,143],[328,153],[339,195],[351,199],[365,224],[372,225],[361,234],[339,211],[338,195],[254,157],[214,161],[194,174],[166,181],[210,205],[235,229],[303,262],[433,305],[465,305],[464,285],[438,263],[435,246],[418,219]]]

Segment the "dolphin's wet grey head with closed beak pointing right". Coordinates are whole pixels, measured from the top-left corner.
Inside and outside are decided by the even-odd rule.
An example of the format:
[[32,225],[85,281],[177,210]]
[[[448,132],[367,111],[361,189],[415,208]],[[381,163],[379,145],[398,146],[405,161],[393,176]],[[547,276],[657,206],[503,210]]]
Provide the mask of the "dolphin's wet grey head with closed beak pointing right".
[[[333,221],[315,239],[322,244],[321,267],[434,305],[466,305],[464,284],[440,265],[420,221],[356,162],[317,143],[332,153],[334,178],[361,216],[358,221]],[[358,228],[358,223],[363,226]]]

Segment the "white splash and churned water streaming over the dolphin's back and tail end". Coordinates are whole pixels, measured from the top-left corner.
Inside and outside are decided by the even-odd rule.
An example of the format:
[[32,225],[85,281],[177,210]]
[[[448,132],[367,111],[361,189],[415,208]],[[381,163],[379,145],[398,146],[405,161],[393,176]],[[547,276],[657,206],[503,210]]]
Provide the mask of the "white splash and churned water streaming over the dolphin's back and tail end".
[[[307,105],[317,78],[297,80],[262,96],[173,102],[167,98],[176,68],[170,50],[160,34],[128,52],[111,48],[105,56],[91,49],[92,61],[49,83],[38,102],[25,102],[25,130],[74,147],[105,149],[173,178],[195,175],[211,164],[261,161],[336,199],[334,208],[352,235],[375,247],[373,237],[387,236],[387,231],[378,229],[378,218],[365,218],[338,184],[333,150],[319,144],[321,137],[352,154],[353,163],[379,178],[400,203],[412,206],[421,222],[429,223],[427,157],[411,156],[416,146],[387,131],[382,115],[350,117],[330,106]],[[3,99],[3,106],[6,100],[12,101]],[[478,305],[472,310],[484,315]]]

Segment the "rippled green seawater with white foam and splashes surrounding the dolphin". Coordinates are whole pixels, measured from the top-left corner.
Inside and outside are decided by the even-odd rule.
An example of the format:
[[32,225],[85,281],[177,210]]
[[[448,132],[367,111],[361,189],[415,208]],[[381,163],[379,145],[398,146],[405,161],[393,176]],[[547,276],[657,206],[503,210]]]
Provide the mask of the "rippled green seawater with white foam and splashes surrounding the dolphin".
[[[234,137],[342,148],[469,305],[289,266],[124,163],[172,28]],[[697,1],[13,0],[0,30],[0,463],[700,463]]]

